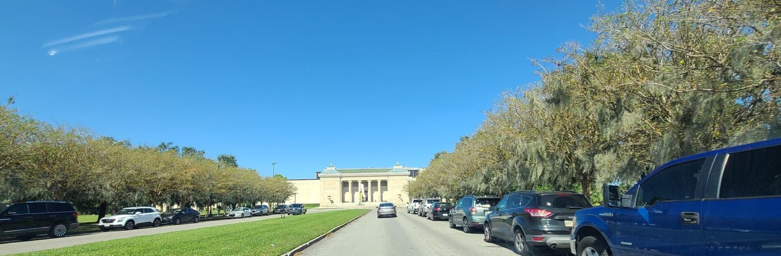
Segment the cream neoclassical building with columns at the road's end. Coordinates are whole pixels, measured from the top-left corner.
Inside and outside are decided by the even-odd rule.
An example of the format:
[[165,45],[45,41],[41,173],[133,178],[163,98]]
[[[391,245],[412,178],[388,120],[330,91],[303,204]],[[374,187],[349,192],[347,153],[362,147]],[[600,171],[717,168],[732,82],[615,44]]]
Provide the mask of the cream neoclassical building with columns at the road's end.
[[315,179],[291,180],[298,190],[287,203],[319,203],[321,206],[358,205],[361,201],[360,185],[366,191],[364,205],[393,202],[407,203],[404,191],[408,181],[418,175],[420,168],[402,167],[398,163],[390,168],[339,169],[333,165],[316,172]]

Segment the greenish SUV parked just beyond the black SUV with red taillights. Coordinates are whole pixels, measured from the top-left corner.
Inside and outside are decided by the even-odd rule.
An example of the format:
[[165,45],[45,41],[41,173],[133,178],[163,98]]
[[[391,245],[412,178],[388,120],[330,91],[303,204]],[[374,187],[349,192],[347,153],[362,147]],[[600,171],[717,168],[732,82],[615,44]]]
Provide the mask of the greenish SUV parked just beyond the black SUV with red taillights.
[[482,228],[486,214],[494,211],[500,199],[493,195],[467,195],[458,199],[448,219],[450,227],[455,229],[456,226],[461,226],[464,233],[472,232],[475,228]]

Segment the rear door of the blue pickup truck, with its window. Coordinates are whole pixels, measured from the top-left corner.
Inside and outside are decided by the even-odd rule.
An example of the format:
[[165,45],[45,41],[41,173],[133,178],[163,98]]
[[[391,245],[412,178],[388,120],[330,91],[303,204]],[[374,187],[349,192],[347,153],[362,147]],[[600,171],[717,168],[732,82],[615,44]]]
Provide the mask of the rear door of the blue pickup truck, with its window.
[[781,146],[719,159],[703,202],[708,255],[781,254]]

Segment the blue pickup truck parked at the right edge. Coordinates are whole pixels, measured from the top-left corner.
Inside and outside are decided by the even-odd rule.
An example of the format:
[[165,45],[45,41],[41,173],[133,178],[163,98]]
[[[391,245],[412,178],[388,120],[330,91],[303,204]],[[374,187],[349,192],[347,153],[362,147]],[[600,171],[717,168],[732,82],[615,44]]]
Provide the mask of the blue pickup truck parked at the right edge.
[[575,214],[572,254],[781,255],[781,139],[665,163]]

